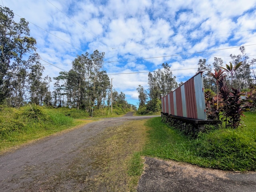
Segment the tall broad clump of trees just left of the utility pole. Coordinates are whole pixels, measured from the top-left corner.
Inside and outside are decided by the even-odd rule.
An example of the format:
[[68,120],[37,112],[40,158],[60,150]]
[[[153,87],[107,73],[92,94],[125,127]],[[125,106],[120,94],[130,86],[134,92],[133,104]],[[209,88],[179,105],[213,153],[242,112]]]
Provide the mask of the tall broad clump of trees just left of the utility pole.
[[[92,54],[77,56],[72,62],[72,69],[62,72],[56,80],[64,81],[62,90],[66,91],[67,103],[70,107],[81,107],[89,110],[90,107],[100,108],[104,105],[107,92],[110,89],[110,80],[103,68],[105,53],[95,50]],[[57,99],[56,84],[55,98]],[[60,91],[60,88],[58,92]]]

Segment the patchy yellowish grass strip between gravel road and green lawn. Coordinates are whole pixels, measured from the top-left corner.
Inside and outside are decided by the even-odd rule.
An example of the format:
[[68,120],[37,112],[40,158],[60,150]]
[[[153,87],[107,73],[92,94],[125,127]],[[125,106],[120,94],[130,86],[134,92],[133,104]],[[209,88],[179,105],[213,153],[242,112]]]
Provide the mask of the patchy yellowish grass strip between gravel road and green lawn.
[[[86,148],[72,161],[67,172],[62,172],[52,180],[50,186],[63,180],[73,180],[78,191],[122,191],[135,192],[142,172],[143,163],[140,152],[146,142],[146,120],[135,120],[122,126],[109,127],[96,145]],[[136,161],[134,174],[131,165]]]

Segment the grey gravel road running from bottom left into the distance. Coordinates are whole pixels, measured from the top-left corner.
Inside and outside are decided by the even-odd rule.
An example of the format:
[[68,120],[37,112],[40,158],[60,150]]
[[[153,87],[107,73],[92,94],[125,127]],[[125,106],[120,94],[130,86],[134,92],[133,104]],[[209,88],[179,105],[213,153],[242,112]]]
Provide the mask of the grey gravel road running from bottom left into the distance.
[[[83,165],[84,172],[96,171],[92,170],[90,165],[94,161],[90,152],[87,156],[83,156],[86,148],[96,145],[98,138],[108,127],[150,117],[132,116],[129,112],[121,118],[104,118],[0,155],[0,192],[84,191],[82,184],[77,180],[54,180],[60,179],[63,172],[66,174],[74,172],[74,170],[69,172],[69,169],[73,164],[77,164],[76,161],[80,158],[86,158],[84,160],[86,165]],[[79,177],[77,172],[75,175]],[[65,175],[65,178],[71,177]],[[52,184],[55,186],[51,186]]]

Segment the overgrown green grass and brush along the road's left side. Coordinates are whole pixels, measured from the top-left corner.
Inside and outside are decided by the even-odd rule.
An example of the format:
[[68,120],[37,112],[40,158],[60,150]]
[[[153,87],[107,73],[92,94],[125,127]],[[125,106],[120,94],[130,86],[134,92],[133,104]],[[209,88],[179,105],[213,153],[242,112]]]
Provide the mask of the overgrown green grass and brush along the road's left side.
[[[109,112],[110,111],[110,112]],[[126,108],[95,110],[93,117],[116,117]],[[0,106],[0,153],[51,134],[94,120],[90,112],[70,108],[49,108],[28,104],[20,108]]]

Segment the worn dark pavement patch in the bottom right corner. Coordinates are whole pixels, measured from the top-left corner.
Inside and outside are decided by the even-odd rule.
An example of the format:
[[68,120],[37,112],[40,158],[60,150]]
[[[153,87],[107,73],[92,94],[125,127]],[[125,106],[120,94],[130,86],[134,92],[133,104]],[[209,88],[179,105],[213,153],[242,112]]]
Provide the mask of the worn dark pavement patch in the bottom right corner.
[[145,157],[138,192],[255,192],[255,172],[227,172]]

